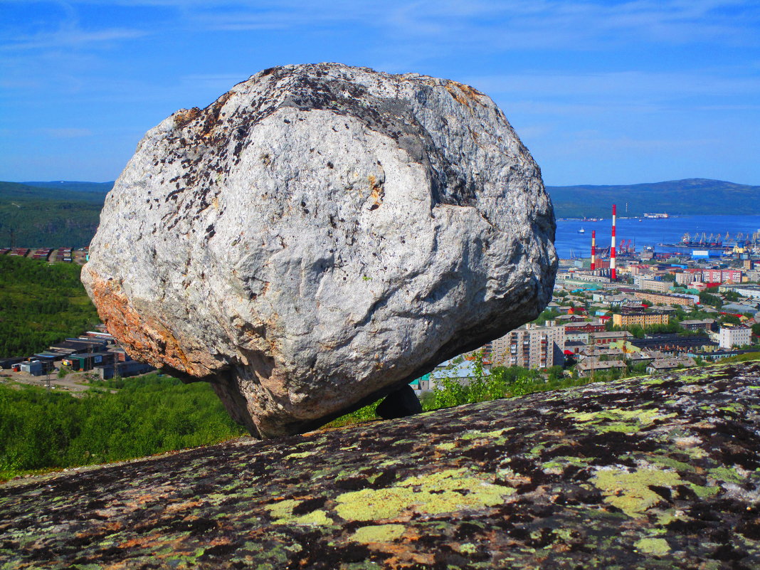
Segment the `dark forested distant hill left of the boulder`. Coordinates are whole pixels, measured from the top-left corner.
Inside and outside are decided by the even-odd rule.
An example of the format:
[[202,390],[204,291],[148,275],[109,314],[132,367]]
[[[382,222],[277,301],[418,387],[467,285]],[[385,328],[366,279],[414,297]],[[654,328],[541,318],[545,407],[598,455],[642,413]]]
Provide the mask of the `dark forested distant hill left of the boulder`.
[[106,192],[0,182],[0,247],[10,247],[11,230],[16,245],[26,247],[88,245]]

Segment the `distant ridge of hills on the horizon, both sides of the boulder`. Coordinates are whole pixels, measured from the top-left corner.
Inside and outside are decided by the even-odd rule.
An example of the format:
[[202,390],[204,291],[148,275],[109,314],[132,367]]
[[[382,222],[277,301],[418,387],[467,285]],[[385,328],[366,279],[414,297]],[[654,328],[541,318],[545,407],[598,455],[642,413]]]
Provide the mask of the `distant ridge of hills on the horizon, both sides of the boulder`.
[[[0,182],[0,247],[88,245],[100,209],[114,182]],[[692,178],[630,185],[546,186],[556,217],[671,216],[760,214],[760,186]]]

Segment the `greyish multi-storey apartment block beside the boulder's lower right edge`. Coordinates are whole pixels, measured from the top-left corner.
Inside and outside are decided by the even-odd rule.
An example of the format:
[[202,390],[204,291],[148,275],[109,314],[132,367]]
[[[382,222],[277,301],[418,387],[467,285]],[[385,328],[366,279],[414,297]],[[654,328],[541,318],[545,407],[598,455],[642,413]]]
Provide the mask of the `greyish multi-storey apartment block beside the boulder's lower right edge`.
[[494,366],[549,368],[565,362],[565,328],[549,321],[549,326],[529,323],[492,341]]

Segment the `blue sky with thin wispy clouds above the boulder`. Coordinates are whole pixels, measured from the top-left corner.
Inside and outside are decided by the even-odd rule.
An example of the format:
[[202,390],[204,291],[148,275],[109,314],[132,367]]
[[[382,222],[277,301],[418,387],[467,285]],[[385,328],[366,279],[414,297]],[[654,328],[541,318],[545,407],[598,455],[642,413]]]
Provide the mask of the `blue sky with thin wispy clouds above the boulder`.
[[485,91],[549,185],[760,185],[757,0],[0,0],[0,180],[115,179],[176,109],[323,61]]

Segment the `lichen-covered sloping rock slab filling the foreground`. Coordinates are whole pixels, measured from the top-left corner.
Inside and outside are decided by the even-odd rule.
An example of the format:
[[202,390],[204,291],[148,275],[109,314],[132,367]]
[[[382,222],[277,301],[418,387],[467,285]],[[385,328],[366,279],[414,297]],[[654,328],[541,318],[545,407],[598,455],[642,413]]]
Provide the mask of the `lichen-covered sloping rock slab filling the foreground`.
[[760,363],[0,486],[0,567],[760,568]]

